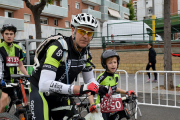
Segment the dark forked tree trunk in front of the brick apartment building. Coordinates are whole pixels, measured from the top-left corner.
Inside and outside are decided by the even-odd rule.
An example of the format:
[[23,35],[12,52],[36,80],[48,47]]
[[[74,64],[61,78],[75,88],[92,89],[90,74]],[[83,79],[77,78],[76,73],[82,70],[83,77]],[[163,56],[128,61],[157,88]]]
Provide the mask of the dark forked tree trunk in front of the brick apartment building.
[[34,21],[35,21],[35,29],[36,29],[36,39],[41,39],[41,22],[40,15],[44,9],[44,7],[48,4],[53,4],[53,0],[41,0],[38,4],[32,5],[29,0],[23,0],[26,6],[31,10]]

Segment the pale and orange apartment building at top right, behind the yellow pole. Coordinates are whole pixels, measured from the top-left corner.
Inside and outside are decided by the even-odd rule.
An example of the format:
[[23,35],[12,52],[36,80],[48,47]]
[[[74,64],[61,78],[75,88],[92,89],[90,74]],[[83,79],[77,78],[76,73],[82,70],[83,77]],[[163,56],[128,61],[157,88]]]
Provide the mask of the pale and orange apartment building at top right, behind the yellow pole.
[[[134,8],[136,8],[137,20],[152,19],[153,5],[152,0],[133,0]],[[178,14],[180,9],[178,4],[180,0],[171,0],[171,15]],[[164,17],[164,0],[154,0],[155,18]]]

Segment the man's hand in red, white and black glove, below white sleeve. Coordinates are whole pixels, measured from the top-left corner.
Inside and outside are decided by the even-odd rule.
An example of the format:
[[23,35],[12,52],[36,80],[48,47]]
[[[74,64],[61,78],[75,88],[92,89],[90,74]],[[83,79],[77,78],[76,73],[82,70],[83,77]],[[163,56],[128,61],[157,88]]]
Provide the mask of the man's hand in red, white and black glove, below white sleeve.
[[90,82],[88,84],[81,85],[80,94],[82,95],[91,92],[91,94],[95,95],[97,94],[98,90],[99,87],[95,83]]

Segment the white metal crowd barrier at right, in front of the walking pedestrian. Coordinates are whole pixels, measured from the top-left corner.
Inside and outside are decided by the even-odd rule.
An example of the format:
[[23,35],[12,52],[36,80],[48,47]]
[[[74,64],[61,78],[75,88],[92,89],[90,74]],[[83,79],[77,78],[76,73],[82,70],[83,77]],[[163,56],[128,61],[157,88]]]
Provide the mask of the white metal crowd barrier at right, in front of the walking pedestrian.
[[[149,72],[150,73],[150,83],[146,83],[145,84],[145,76],[144,76],[144,73],[147,73]],[[143,79],[139,79],[138,80],[138,74],[139,73],[142,73],[142,76],[143,76]],[[157,81],[158,83],[157,84],[154,84],[152,83],[152,73],[157,73]],[[136,91],[136,94],[138,96],[138,94],[141,94],[142,93],[142,102],[139,102],[137,100],[137,104],[138,105],[150,105],[150,106],[161,106],[161,107],[171,107],[171,108],[180,108],[180,106],[177,106],[177,95],[179,95],[179,98],[180,98],[180,93],[177,94],[176,93],[176,87],[174,87],[174,91],[169,91],[168,92],[168,86],[166,84],[166,90],[161,90],[160,91],[160,78],[164,78],[164,76],[160,76],[159,74],[160,73],[164,73],[166,75],[166,83],[167,83],[167,74],[168,73],[174,73],[174,86],[176,86],[177,84],[177,81],[176,81],[176,73],[180,73],[180,71],[137,71],[136,74],[135,74],[135,91]],[[163,82],[164,82],[164,79],[163,79]],[[141,87],[142,85],[142,87]],[[157,90],[153,90],[153,87],[157,86]],[[141,89],[141,90],[138,90],[138,89]],[[150,92],[146,92],[147,90],[150,90]],[[161,93],[160,93],[161,92]],[[166,104],[163,105],[161,103],[160,100],[163,100],[162,98],[160,97],[163,97],[163,95],[165,96],[165,100],[166,100]],[[146,102],[145,100],[147,99],[147,101],[149,100],[148,98],[146,98],[145,96],[150,96],[150,103]],[[174,95],[174,99],[173,96]],[[155,98],[157,97],[157,100],[156,99],[153,99],[153,97],[155,96]],[[138,96],[139,97],[139,96]],[[168,104],[168,101],[169,101],[169,98],[171,97],[171,99],[174,100],[174,105],[169,105]],[[154,101],[153,101],[154,100]],[[157,102],[158,101],[158,102]],[[153,103],[154,102],[154,103]],[[155,104],[157,102],[157,104]],[[136,114],[136,118],[137,118],[137,114]]]

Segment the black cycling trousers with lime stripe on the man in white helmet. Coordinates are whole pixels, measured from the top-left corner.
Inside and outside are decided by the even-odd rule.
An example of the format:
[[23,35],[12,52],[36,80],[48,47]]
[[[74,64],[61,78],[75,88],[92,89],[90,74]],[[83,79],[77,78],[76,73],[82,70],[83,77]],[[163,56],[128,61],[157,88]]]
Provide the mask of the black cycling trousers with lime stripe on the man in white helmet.
[[45,96],[39,92],[39,89],[35,85],[30,85],[32,120],[51,120],[51,117],[53,120],[63,120],[67,110],[51,111],[51,109],[66,105],[68,105],[67,100],[61,100],[61,98],[54,96]]

